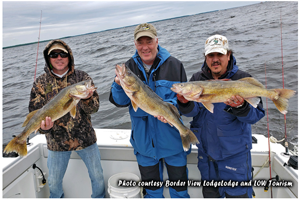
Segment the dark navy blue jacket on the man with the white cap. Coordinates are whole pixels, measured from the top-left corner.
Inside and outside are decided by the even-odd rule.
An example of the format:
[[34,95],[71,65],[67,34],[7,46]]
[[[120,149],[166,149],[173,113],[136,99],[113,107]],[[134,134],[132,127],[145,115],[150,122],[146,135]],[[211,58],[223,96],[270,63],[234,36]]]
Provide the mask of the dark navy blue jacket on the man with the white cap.
[[[250,74],[238,69],[235,58],[231,55],[227,72],[219,79],[237,80],[251,77]],[[210,69],[204,63],[202,70],[193,74],[190,81],[213,79]],[[265,115],[262,101],[257,108],[246,101],[241,108],[233,108],[225,103],[214,103],[214,113],[210,113],[198,102],[178,103],[180,112],[193,117],[191,130],[199,140],[198,150],[209,155],[214,160],[224,160],[227,157],[245,153],[252,148],[251,124],[255,124]]]

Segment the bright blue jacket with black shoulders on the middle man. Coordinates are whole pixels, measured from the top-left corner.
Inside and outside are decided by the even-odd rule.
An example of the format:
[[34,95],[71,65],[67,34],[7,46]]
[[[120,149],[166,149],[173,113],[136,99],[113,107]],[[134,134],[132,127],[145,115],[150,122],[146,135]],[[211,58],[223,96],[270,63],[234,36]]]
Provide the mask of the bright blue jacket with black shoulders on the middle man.
[[[177,107],[176,93],[171,91],[170,88],[174,83],[186,82],[187,78],[182,63],[170,56],[166,49],[158,46],[158,54],[149,74],[146,73],[137,51],[126,62],[126,65],[164,101]],[[135,112],[130,98],[125,94],[122,87],[115,82],[111,86],[109,100],[117,107],[129,106],[131,118],[130,142],[135,153],[138,152],[144,156],[160,159],[183,151],[178,130],[159,121],[140,108]]]

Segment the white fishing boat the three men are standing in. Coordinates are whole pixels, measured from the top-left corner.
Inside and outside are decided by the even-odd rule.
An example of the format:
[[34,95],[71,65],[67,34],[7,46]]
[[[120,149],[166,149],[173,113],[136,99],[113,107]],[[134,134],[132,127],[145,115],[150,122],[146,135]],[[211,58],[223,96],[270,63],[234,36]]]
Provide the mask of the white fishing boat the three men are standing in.
[[[109,193],[109,180],[119,173],[132,173],[140,178],[138,164],[129,142],[129,129],[95,129],[97,144],[101,154],[101,164],[104,172],[106,197]],[[245,186],[253,186],[257,198],[298,198],[298,152],[289,151],[279,143],[270,143],[271,176],[269,168],[268,138],[253,134],[251,150],[253,181]],[[2,158],[2,193],[3,198],[47,198],[49,187],[47,183],[48,150],[44,135],[36,135],[28,141],[28,154],[25,157]],[[197,147],[187,157],[189,181],[201,180],[197,168]],[[164,169],[164,181],[167,172]],[[202,186],[191,183],[188,192],[191,198],[202,198]],[[270,186],[269,186],[270,185]],[[206,186],[206,185],[205,185]],[[77,155],[72,152],[71,159],[63,180],[64,196],[66,198],[89,198],[92,194],[91,183],[87,169]],[[169,198],[169,188],[165,186],[164,196]],[[142,189],[140,189],[142,191]],[[124,197],[126,197],[124,195]],[[138,197],[142,197],[138,195]]]

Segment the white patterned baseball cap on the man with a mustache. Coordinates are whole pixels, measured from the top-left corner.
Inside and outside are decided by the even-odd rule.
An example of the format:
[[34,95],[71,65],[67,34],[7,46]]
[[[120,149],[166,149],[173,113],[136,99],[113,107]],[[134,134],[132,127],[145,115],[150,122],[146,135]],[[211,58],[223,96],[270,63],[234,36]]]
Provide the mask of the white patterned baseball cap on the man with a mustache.
[[228,49],[228,40],[222,35],[213,35],[205,41],[205,56],[214,52],[226,55]]

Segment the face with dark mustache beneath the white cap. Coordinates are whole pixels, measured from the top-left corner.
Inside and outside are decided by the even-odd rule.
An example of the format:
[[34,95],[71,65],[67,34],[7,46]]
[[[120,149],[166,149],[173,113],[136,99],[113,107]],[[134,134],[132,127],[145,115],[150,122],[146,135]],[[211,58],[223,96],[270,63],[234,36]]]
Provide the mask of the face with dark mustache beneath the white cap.
[[218,78],[227,71],[227,65],[230,60],[230,52],[227,55],[214,52],[205,56],[206,64],[212,72],[214,78]]

